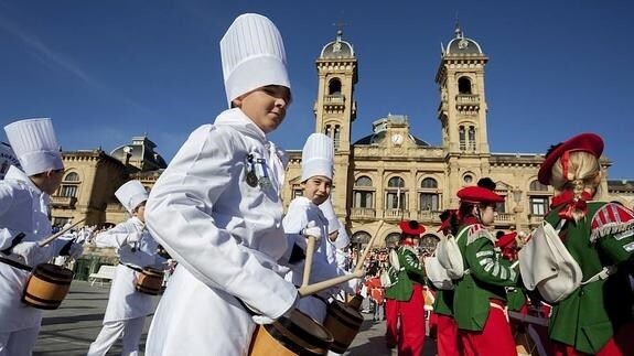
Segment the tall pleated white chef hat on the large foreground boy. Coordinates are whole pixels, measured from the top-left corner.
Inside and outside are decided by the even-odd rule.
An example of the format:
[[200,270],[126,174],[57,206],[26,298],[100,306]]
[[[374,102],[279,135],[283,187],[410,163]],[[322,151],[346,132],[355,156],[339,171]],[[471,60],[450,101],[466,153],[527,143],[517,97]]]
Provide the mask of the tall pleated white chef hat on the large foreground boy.
[[291,87],[282,36],[260,14],[236,18],[221,40],[221,56],[229,107],[233,99],[262,86]]

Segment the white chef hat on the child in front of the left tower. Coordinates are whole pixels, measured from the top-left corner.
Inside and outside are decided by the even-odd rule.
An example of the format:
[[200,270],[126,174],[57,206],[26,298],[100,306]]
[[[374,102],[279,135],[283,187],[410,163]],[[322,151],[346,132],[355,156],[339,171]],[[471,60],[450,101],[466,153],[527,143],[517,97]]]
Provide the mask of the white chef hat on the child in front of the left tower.
[[323,133],[311,133],[302,150],[302,182],[315,175],[332,180],[333,159],[332,139]]

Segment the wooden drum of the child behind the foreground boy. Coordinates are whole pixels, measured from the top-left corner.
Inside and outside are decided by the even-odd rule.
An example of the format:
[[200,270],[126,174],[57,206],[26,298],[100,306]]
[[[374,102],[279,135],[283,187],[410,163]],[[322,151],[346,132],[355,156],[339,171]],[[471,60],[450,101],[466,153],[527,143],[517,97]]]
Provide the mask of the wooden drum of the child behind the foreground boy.
[[363,315],[354,308],[337,300],[330,303],[323,322],[325,328],[334,336],[330,349],[343,354],[352,344],[362,324]]

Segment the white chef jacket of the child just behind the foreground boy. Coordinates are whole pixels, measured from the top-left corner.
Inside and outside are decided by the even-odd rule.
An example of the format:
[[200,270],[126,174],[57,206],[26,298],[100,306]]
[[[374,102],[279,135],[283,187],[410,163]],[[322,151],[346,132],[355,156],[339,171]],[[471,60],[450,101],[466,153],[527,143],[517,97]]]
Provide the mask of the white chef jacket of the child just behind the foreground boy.
[[[348,274],[337,267],[334,246],[332,246],[332,248],[329,247],[329,245],[332,244],[327,239],[327,219],[324,217],[321,208],[305,196],[294,198],[289,205],[287,215],[283,218],[284,233],[289,234],[288,236],[297,236],[294,234],[299,234],[304,227],[307,227],[309,222],[315,222],[315,226],[321,228],[322,231],[322,237],[313,255],[309,283],[312,284],[339,276]],[[304,237],[299,236],[299,238]],[[303,281],[303,261],[292,266],[292,270],[287,273],[287,280],[292,281],[295,285],[301,285]],[[339,292],[339,288],[351,290],[352,288],[347,285],[356,285],[356,281],[353,279],[347,283],[343,283],[333,289],[318,293],[321,299],[313,296],[302,298],[299,301],[298,309],[310,315],[320,324],[323,324],[327,308],[324,301],[327,301],[332,294],[336,294]]]

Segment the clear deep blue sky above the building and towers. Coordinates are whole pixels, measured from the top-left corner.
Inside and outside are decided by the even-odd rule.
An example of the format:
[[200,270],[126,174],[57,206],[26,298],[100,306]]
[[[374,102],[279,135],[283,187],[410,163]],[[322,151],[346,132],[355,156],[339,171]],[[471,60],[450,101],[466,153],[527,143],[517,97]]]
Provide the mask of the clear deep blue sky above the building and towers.
[[314,61],[343,21],[359,65],[353,141],[391,112],[439,144],[434,76],[458,15],[490,57],[493,152],[542,153],[593,131],[610,179],[634,179],[633,3],[0,0],[0,123],[51,117],[64,150],[109,152],[148,133],[169,161],[225,108],[218,41],[236,15],[258,12],[282,32],[294,96],[273,141],[301,149],[314,130]]

